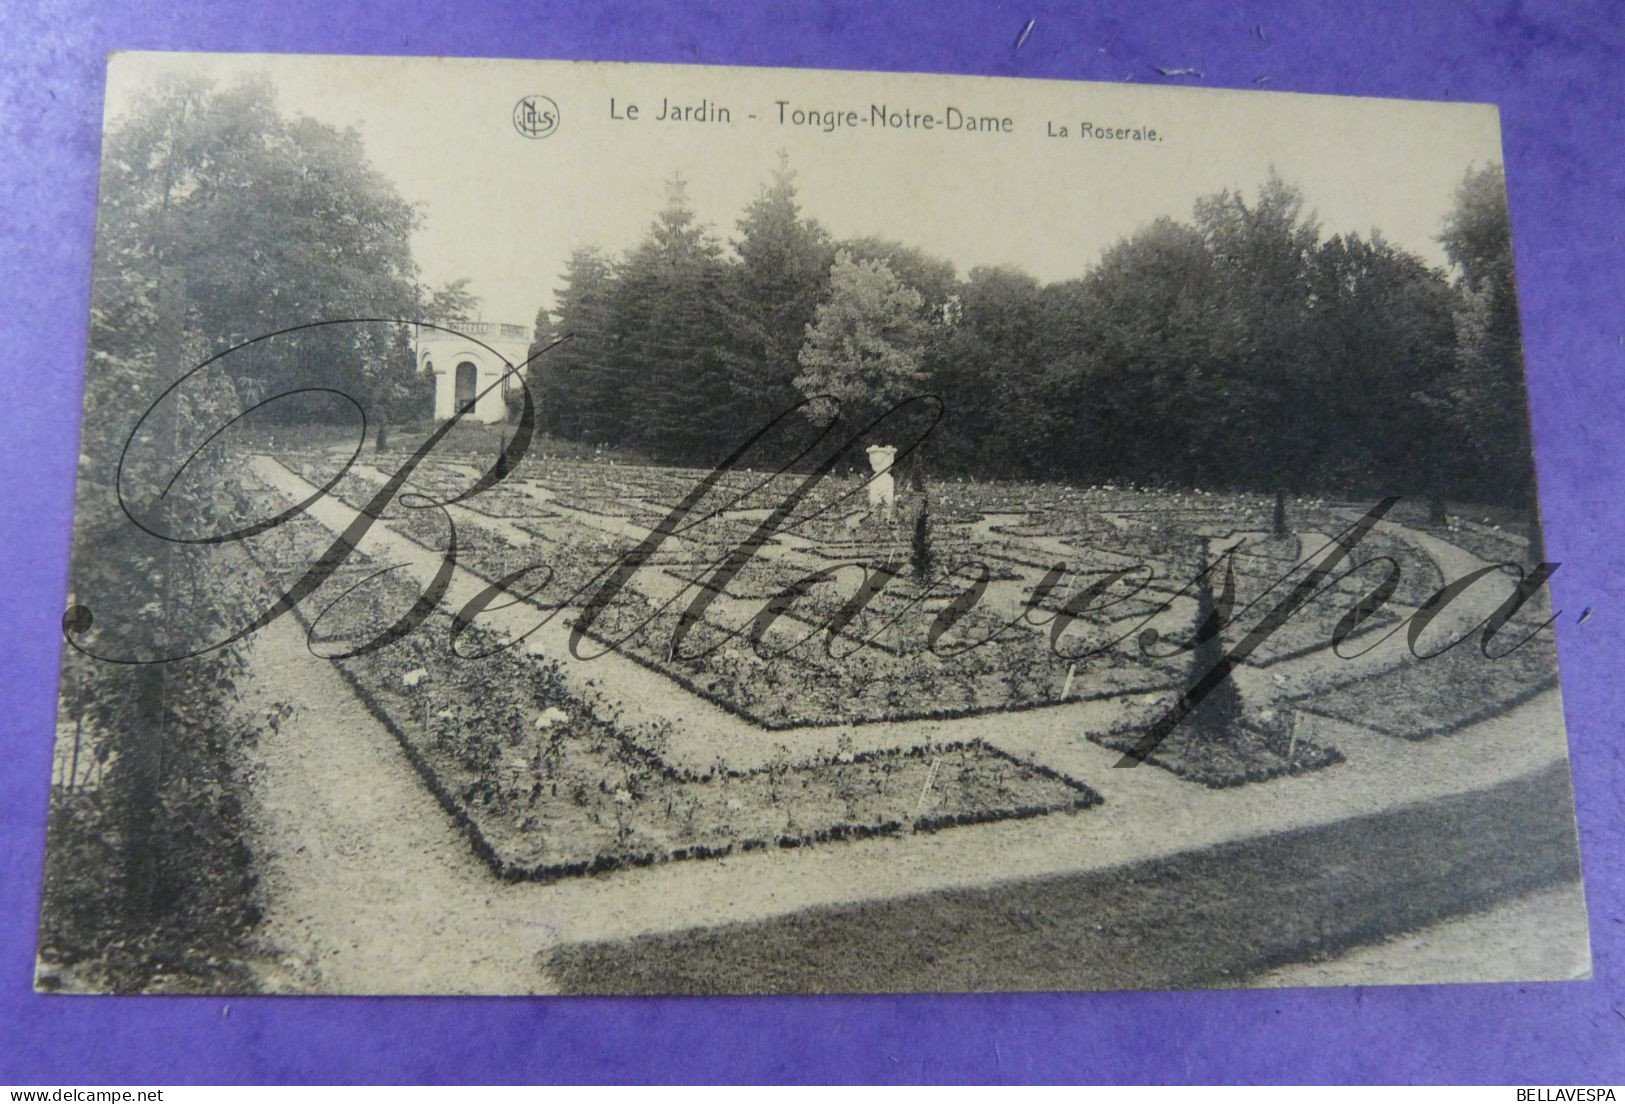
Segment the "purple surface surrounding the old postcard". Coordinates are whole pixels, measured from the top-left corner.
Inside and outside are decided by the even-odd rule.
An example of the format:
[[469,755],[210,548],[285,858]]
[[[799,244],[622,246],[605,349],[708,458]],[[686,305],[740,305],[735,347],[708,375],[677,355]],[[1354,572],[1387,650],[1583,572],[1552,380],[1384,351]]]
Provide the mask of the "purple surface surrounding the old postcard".
[[[34,3],[0,21],[0,1081],[1625,1081],[1620,263],[1609,3]],[[1017,50],[1027,20],[1037,24]],[[1254,37],[1254,24],[1263,42]],[[1100,47],[1107,54],[1100,54]],[[751,1000],[31,992],[112,49],[582,57],[1167,81],[1502,106],[1596,980]],[[1168,81],[1152,68],[1196,67]],[[1381,166],[1372,166],[1380,172]],[[1578,623],[1584,608],[1591,619]],[[224,1015],[224,1005],[231,1015]]]

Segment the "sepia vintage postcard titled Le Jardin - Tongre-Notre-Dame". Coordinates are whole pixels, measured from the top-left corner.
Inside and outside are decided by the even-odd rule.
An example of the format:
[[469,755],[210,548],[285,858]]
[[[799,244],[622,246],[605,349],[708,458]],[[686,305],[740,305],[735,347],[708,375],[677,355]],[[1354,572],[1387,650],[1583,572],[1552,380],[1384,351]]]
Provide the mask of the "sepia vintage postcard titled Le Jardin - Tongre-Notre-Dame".
[[101,164],[39,989],[1588,976],[1493,107],[119,54]]

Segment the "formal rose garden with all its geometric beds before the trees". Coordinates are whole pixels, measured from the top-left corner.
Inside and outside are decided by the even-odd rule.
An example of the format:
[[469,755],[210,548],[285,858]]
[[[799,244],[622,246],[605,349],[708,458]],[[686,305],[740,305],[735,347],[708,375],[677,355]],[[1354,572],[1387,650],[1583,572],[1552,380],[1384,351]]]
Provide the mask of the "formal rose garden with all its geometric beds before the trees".
[[[405,455],[346,460],[322,449],[276,457],[315,486],[341,472],[332,496],[362,509]],[[559,657],[481,624],[478,611],[453,623],[447,605],[387,647],[338,658],[510,880],[1098,805],[1089,785],[980,740],[939,732],[876,748],[853,733],[921,720],[951,732],[960,717],[1100,702],[1120,707],[1120,720],[1087,738],[1128,754],[1194,683],[1204,649],[1242,641],[1362,511],[1294,499],[1290,530],[1274,532],[1266,496],[941,481],[904,488],[887,515],[866,501],[861,472],[809,491],[796,475],[725,472],[696,494],[700,470],[541,455],[458,499],[479,460],[427,457],[375,524],[442,558],[455,525],[457,567],[504,605],[559,618],[585,647],[656,672],[673,699],[722,707],[772,746],[748,767],[722,756],[705,769],[678,764],[668,748],[684,733],[671,722],[624,720],[613,691],[572,681]],[[263,485],[250,498],[266,514],[286,506]],[[912,540],[921,511],[930,576]],[[1402,532],[1367,533],[1360,554],[1246,654],[1242,670],[1258,678],[1219,728],[1176,725],[1141,756],[1146,766],[1207,787],[1268,782],[1342,763],[1336,746],[1302,735],[1303,714],[1365,724],[1375,712],[1373,730],[1424,738],[1544,689],[1550,655],[1536,647],[1493,678],[1469,649],[1433,668],[1357,675],[1339,658],[1339,624],[1389,566],[1393,608],[1363,610],[1341,647],[1394,631],[1443,585]],[[268,584],[291,587],[333,537],[302,515],[257,538]],[[413,606],[421,580],[387,567],[351,553],[306,600],[314,647],[358,649]],[[1199,647],[1198,619],[1216,602],[1225,624]],[[1287,685],[1277,672],[1297,689],[1259,694],[1258,680]],[[1430,689],[1417,693],[1424,681]],[[1396,686],[1415,702],[1404,717],[1380,709]]]

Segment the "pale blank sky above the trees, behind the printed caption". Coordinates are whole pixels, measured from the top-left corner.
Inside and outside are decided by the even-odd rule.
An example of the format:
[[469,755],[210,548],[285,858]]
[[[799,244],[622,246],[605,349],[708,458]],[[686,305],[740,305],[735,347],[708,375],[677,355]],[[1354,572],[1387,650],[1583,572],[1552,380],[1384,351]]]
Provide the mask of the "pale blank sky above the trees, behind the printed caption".
[[[1271,171],[1303,192],[1324,234],[1378,229],[1443,265],[1436,234],[1458,184],[1502,159],[1497,112],[1482,104],[492,59],[117,54],[109,120],[166,72],[221,83],[263,73],[284,112],[354,127],[372,164],[422,211],[413,242],[422,283],[466,276],[481,319],[525,325],[552,304],[574,249],[619,252],[642,237],[674,171],[726,242],[780,151],[804,213],[837,237],[890,237],[960,275],[1012,265],[1043,281],[1086,273],[1159,216],[1188,218],[1198,197],[1251,197]],[[544,138],[514,125],[533,94],[557,106]],[[726,107],[730,119],[661,122],[663,102],[704,104],[705,119]],[[936,124],[871,125],[878,104]],[[1009,119],[1008,132],[949,130],[949,107]],[[819,122],[796,125],[798,109]],[[848,125],[847,112],[863,122]],[[832,114],[838,125],[826,130]],[[1159,138],[1082,138],[1086,122]]]

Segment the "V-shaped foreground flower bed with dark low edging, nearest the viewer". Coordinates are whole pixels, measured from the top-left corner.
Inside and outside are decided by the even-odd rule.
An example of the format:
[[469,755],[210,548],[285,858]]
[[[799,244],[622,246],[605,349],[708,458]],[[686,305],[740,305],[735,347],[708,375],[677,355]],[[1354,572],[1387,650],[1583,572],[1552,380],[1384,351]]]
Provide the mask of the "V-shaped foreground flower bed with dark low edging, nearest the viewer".
[[[266,563],[291,576],[296,556],[330,540],[294,519]],[[306,561],[309,563],[309,561]],[[375,571],[356,553],[344,590]],[[332,647],[370,639],[416,598],[392,576],[327,606],[314,595],[301,616]],[[327,608],[325,608],[327,606]],[[384,722],[474,850],[504,878],[554,880],[618,867],[704,858],[734,850],[795,847],[956,824],[1082,810],[1089,787],[973,743],[879,753],[832,750],[791,759],[788,750],[754,771],[679,771],[665,763],[668,732],[630,730],[606,701],[572,691],[556,662],[497,650],[455,657],[450,618],[437,611],[411,636],[338,668]],[[500,639],[478,628],[465,654]]]

